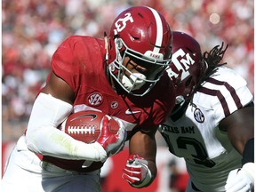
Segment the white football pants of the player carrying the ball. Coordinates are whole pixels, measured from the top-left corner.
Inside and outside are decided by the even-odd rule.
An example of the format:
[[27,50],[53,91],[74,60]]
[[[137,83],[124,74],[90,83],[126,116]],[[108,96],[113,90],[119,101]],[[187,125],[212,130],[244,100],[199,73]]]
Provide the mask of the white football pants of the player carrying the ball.
[[100,170],[70,172],[42,162],[29,151],[21,136],[6,164],[1,192],[100,192]]

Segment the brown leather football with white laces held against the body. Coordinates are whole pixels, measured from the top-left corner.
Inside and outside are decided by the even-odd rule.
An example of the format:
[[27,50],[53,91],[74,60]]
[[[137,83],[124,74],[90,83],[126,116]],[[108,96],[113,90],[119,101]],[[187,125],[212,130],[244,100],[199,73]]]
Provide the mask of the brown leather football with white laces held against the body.
[[[99,139],[104,113],[100,111],[80,111],[68,116],[60,125],[60,129],[72,138],[85,143],[92,143]],[[116,133],[119,130],[117,122],[109,120],[109,132]]]

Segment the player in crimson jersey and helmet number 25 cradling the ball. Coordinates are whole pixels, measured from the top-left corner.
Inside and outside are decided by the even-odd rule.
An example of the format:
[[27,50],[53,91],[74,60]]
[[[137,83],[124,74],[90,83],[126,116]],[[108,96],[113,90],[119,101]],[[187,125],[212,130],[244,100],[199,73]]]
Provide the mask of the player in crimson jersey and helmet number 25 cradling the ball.
[[[172,30],[147,6],[121,12],[104,39],[68,37],[52,56],[51,74],[36,97],[27,132],[12,151],[1,191],[100,191],[100,166],[124,145],[124,128],[131,154],[124,179],[135,188],[148,186],[156,177],[155,133],[175,104],[164,70],[171,57]],[[57,129],[82,110],[115,118],[117,141],[105,135],[110,143],[103,148],[104,140],[86,144]]]

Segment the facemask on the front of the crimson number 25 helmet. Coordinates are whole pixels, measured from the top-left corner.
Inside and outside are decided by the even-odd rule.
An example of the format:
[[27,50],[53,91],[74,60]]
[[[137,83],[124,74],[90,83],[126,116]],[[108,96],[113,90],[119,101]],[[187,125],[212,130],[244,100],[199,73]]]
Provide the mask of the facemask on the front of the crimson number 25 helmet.
[[[109,64],[109,73],[116,80],[125,92],[134,96],[143,96],[147,94],[156,82],[163,75],[164,69],[168,67],[171,59],[163,60],[163,55],[159,54],[161,60],[150,57],[151,51],[141,54],[130,49],[122,38],[118,36],[114,39],[116,48],[116,59]],[[154,52],[153,52],[154,53]],[[156,53],[155,53],[156,54]],[[129,57],[128,63],[134,62],[147,70],[142,72],[136,69],[132,72],[124,66],[125,57]]]

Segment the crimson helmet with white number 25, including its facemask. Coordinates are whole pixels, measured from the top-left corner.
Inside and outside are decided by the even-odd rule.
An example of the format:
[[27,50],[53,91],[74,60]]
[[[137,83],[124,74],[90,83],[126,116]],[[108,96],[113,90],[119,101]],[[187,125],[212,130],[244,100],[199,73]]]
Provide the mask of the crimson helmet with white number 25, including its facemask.
[[[172,30],[164,16],[147,6],[128,8],[114,20],[108,38],[110,75],[125,92],[145,95],[172,57]],[[123,65],[125,57],[147,72],[132,73]]]

